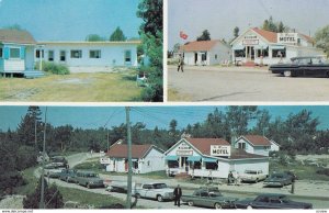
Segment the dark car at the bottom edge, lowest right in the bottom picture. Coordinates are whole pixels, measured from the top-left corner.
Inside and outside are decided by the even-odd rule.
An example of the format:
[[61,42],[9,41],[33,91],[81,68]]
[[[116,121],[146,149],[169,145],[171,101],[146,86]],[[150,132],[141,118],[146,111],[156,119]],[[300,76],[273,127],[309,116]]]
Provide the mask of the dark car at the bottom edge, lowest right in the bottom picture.
[[285,194],[260,194],[256,199],[235,202],[237,209],[313,209],[311,203],[290,200]]

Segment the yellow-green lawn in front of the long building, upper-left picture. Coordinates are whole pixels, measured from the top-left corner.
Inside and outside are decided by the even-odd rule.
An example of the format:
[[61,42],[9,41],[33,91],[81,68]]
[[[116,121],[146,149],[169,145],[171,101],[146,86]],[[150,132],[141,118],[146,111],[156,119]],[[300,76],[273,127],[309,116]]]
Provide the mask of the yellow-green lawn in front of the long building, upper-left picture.
[[136,71],[48,75],[36,79],[0,78],[0,101],[141,101]]

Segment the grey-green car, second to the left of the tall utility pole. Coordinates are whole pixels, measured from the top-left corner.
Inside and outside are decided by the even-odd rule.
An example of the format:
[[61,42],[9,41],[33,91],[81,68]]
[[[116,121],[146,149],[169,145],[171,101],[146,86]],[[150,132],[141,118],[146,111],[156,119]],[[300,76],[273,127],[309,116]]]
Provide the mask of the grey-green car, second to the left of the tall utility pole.
[[76,177],[73,178],[77,184],[81,184],[87,188],[93,187],[104,187],[104,181],[100,176],[93,171],[77,171]]

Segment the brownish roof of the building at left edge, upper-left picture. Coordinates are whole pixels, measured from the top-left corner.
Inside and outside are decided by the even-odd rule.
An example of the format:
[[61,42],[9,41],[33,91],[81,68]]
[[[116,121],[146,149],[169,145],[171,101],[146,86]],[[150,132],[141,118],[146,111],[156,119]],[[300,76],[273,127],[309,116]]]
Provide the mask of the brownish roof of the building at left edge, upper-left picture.
[[0,43],[36,44],[27,31],[0,30]]

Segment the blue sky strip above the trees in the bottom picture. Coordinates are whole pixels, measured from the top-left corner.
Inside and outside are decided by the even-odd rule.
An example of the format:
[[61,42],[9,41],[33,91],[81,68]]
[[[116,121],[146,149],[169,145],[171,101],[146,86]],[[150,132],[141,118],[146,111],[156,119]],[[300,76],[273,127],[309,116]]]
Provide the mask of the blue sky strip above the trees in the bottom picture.
[[[43,112],[45,108],[41,107]],[[134,107],[131,120],[132,123],[143,122],[148,128],[155,126],[168,128],[170,121],[175,119],[178,127],[183,128],[188,124],[203,122],[215,108],[225,110],[225,105]],[[272,120],[277,116],[285,119],[290,113],[295,114],[306,109],[313,112],[314,117],[319,119],[319,128],[329,128],[328,105],[261,105],[259,109],[268,109]],[[15,130],[26,111],[27,107],[0,107],[0,130],[7,131],[9,127]],[[125,123],[125,109],[123,107],[48,107],[47,121],[54,126],[70,124],[82,128],[112,127]]]

